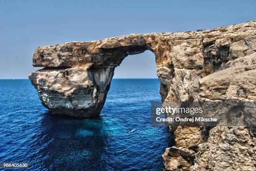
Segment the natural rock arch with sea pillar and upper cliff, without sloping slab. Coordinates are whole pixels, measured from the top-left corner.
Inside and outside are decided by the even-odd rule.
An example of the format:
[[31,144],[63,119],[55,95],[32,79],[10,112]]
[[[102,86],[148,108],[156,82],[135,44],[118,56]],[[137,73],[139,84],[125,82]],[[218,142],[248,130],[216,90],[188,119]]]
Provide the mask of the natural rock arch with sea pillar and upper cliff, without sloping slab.
[[128,55],[151,50],[156,56],[162,101],[195,100],[200,97],[203,77],[222,70],[229,60],[254,52],[255,25],[252,21],[212,30],[131,34],[42,46],[33,55],[33,66],[46,68],[32,72],[29,79],[49,110],[97,116],[115,67]]

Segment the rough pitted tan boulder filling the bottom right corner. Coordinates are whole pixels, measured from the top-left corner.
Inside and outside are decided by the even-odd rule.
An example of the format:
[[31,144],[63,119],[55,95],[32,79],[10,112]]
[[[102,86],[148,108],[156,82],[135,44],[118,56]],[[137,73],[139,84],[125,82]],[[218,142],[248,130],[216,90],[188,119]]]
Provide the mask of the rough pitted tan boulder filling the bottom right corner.
[[192,171],[255,171],[255,137],[244,127],[215,127],[199,146]]

